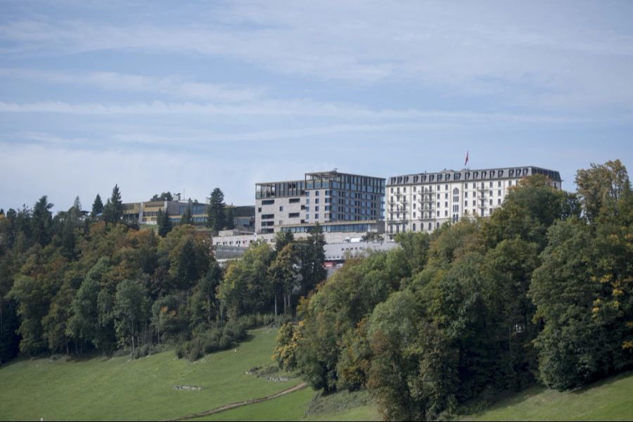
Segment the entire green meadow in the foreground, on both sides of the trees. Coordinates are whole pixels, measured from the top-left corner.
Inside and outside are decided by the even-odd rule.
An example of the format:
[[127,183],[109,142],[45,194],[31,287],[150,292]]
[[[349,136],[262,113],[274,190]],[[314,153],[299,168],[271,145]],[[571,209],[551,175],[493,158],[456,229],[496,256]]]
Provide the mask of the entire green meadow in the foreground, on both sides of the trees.
[[[275,338],[276,330],[252,330],[241,345],[197,362],[173,351],[141,359],[17,360],[0,368],[0,420],[164,420],[266,397],[301,382],[247,373],[270,364]],[[305,388],[196,420],[378,421],[380,414],[366,392],[321,397]],[[463,420],[631,421],[633,373],[569,392],[532,387]]]

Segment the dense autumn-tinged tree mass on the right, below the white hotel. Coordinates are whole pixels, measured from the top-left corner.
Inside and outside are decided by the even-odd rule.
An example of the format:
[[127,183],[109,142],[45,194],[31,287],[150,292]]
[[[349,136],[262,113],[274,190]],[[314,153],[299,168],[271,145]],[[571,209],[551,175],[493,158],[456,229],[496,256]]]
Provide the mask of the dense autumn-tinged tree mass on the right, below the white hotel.
[[576,184],[529,177],[488,219],[348,260],[281,327],[274,358],[317,390],[369,390],[385,420],[449,418],[536,382],[566,390],[631,369],[627,170],[592,165]]

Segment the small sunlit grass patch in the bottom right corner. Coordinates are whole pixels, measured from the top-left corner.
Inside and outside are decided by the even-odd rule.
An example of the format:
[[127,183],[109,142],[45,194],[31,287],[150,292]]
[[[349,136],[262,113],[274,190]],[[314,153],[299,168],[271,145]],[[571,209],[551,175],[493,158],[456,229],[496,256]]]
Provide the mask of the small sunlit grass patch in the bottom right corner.
[[469,421],[633,421],[633,372],[574,391],[532,387]]

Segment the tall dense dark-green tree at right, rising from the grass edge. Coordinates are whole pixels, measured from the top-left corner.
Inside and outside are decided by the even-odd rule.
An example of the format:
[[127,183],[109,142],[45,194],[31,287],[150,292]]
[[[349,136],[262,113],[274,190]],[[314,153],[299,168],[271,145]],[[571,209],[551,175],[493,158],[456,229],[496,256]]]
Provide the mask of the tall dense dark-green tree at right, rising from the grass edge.
[[548,238],[543,264],[534,271],[530,288],[536,317],[544,324],[535,345],[543,383],[566,389],[605,375],[613,347],[608,345],[608,333],[592,318],[602,286],[592,280],[587,265],[594,241],[589,227],[580,219],[569,219],[554,225]]

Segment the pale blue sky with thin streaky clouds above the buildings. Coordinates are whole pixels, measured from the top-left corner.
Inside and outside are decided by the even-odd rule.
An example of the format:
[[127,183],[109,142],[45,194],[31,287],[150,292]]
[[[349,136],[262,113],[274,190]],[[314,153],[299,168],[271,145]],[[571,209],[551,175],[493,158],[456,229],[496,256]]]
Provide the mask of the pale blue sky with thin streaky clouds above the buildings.
[[633,168],[632,1],[0,0],[0,207]]

